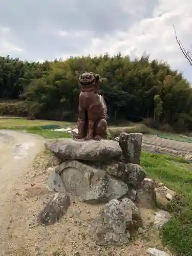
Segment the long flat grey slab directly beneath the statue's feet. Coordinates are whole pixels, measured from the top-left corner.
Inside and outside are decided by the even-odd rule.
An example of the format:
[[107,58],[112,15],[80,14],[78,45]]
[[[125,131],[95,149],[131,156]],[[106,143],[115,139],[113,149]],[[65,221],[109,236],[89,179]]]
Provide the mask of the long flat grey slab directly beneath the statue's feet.
[[119,161],[122,156],[118,142],[113,140],[57,139],[46,142],[45,146],[62,161],[108,161],[109,159]]

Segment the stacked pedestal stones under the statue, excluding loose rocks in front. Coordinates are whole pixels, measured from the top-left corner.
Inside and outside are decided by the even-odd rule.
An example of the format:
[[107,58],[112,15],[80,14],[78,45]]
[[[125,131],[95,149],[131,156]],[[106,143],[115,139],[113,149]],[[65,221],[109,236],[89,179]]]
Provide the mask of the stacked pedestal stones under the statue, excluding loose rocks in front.
[[49,179],[50,187],[89,203],[108,202],[136,194],[146,177],[139,166],[142,134],[122,133],[112,140],[73,139],[47,142],[61,164]]

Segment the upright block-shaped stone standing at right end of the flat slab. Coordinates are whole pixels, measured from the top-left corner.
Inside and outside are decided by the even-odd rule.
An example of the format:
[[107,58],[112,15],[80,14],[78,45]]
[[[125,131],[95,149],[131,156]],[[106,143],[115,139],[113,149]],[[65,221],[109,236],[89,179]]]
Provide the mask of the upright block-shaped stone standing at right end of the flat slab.
[[121,133],[119,145],[124,163],[140,163],[142,133]]

